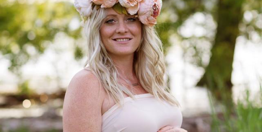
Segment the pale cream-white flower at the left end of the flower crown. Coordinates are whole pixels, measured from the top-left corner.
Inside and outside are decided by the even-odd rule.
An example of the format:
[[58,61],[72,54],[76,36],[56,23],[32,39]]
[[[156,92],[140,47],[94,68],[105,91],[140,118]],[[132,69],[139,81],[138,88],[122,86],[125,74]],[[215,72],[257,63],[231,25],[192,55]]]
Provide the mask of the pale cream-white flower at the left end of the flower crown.
[[81,16],[90,16],[92,13],[91,0],[75,0],[74,6]]

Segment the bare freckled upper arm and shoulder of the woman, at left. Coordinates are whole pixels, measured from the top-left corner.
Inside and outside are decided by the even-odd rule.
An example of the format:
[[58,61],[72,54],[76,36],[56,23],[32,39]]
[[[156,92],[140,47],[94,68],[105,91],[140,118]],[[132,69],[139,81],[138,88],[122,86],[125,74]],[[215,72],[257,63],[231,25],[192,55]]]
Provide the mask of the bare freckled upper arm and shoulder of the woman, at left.
[[103,97],[98,79],[90,71],[78,72],[66,90],[64,132],[101,132]]

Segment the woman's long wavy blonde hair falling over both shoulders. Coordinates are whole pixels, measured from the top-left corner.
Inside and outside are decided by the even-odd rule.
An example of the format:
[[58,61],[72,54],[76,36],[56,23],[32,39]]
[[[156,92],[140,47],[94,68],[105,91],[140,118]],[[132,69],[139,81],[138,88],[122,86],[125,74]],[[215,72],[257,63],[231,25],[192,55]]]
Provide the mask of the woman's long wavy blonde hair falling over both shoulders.
[[[97,6],[97,5],[96,5]],[[134,99],[132,93],[123,84],[118,83],[119,78],[116,66],[107,53],[99,33],[103,19],[107,12],[104,8],[94,7],[92,15],[84,23],[87,37],[87,61],[93,74],[103,85],[106,93],[120,106],[123,106],[123,92]],[[179,106],[177,99],[170,94],[164,81],[165,64],[163,44],[154,28],[142,24],[142,43],[134,53],[133,68],[142,87],[160,101],[167,101]]]

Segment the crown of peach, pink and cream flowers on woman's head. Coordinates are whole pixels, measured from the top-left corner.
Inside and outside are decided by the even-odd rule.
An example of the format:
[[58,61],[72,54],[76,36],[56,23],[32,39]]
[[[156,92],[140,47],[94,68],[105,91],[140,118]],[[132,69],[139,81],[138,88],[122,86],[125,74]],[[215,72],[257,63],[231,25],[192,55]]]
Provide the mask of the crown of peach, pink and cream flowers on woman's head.
[[74,6],[83,17],[91,16],[94,6],[113,8],[115,12],[125,15],[136,15],[139,20],[149,26],[157,23],[162,0],[75,0]]

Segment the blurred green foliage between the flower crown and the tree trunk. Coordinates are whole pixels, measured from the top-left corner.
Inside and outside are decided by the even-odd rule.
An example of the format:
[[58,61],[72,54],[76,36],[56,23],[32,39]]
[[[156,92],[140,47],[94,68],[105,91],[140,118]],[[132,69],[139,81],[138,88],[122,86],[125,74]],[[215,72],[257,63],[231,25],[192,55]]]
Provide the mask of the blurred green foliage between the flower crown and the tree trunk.
[[[183,3],[184,7],[180,7],[178,3]],[[202,12],[205,10],[207,9],[204,7],[204,2],[201,0],[163,0],[163,8],[158,18],[157,31],[163,42],[165,54],[171,46],[169,42],[170,35],[175,33],[180,36],[177,32],[183,22],[195,12]],[[176,21],[172,20],[171,17],[167,17],[164,20],[162,19],[162,16],[170,16],[171,14],[178,16]],[[183,39],[182,36],[180,37]]]

